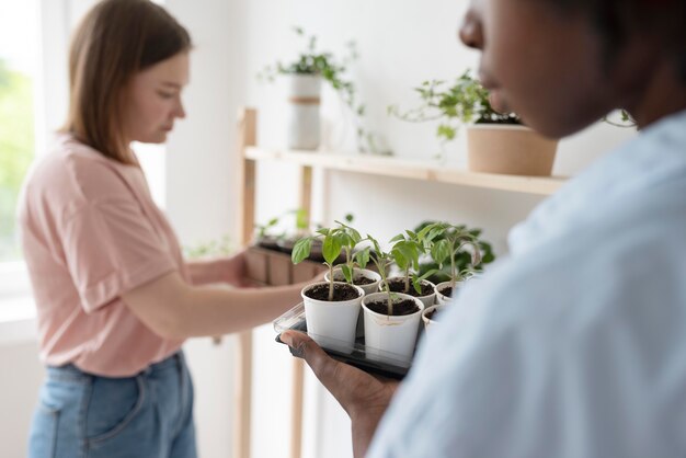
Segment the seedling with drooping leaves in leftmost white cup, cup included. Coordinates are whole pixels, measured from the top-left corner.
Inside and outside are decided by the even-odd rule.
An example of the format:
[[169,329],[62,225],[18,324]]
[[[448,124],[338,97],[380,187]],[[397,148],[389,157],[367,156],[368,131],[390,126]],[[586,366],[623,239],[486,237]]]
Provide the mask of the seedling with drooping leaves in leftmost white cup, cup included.
[[[317,234],[298,240],[291,260],[298,264],[309,257],[312,242],[317,239],[322,241],[324,264],[329,267],[329,278],[333,278],[341,250],[350,242],[340,229],[319,229]],[[308,334],[323,347],[351,353],[364,290],[359,286],[330,279],[306,286],[300,295],[305,302]]]

